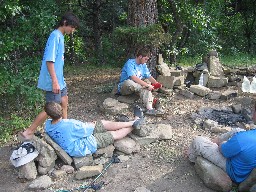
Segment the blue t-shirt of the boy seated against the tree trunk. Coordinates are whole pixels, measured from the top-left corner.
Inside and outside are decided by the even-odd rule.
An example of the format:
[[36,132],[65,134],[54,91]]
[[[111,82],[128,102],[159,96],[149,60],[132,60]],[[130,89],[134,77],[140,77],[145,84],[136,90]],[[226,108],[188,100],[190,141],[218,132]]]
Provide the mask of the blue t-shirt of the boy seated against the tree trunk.
[[118,84],[119,91],[122,86],[122,83],[125,80],[130,79],[131,76],[133,75],[137,76],[140,79],[147,79],[151,76],[146,63],[137,64],[135,59],[129,59],[125,63],[121,72],[120,83]]

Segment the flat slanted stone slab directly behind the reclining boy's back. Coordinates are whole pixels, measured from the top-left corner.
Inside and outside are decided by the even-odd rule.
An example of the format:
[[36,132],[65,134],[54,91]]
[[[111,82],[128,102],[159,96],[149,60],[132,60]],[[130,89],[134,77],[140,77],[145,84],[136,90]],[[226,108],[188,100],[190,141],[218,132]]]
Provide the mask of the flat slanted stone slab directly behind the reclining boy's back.
[[58,157],[61,158],[61,160],[64,163],[71,165],[73,161],[72,158],[57,143],[55,143],[47,134],[45,134],[45,141],[54,148],[56,154],[58,155]]

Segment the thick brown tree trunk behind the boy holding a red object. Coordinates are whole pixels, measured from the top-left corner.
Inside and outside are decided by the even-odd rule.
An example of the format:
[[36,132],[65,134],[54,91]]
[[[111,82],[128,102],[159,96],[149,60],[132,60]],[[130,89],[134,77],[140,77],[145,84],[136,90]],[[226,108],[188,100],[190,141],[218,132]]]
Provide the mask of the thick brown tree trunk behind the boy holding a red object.
[[[157,0],[129,0],[127,23],[133,27],[155,24],[158,19]],[[130,50],[134,53],[136,47]],[[151,58],[148,67],[151,75],[156,78],[157,48],[151,47]]]

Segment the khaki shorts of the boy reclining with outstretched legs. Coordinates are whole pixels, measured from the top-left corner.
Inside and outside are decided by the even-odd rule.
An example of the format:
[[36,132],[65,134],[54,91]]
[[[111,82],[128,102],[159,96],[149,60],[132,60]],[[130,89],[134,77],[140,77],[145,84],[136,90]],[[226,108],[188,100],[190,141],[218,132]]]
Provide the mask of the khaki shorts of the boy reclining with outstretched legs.
[[93,135],[97,142],[97,148],[107,147],[114,143],[114,138],[103,126],[101,121],[97,121]]

